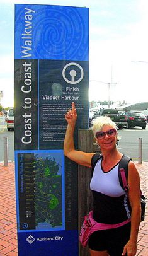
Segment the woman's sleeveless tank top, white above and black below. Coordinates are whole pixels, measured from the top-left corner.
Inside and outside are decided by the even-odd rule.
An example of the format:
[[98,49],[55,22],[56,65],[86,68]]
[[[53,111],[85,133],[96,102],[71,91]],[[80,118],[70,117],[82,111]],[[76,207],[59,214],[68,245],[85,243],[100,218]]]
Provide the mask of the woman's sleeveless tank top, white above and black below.
[[130,218],[130,203],[118,178],[118,165],[108,172],[101,166],[102,158],[94,167],[90,187],[93,192],[93,218],[99,223],[116,224]]

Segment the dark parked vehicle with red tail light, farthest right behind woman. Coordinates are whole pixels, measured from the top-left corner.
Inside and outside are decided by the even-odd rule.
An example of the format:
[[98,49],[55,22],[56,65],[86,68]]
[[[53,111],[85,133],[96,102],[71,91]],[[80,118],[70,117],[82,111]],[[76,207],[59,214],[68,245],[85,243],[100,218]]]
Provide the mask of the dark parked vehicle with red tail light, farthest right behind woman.
[[125,120],[127,121],[127,129],[131,127],[139,126],[145,129],[147,126],[147,119],[144,113],[137,111],[125,112]]

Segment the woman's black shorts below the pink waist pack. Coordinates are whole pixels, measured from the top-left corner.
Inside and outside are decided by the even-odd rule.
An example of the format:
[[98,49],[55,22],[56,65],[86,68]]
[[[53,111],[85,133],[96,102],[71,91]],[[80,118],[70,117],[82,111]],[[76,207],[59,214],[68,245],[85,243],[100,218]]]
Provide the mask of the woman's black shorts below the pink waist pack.
[[111,230],[95,231],[88,240],[88,245],[91,250],[105,251],[110,256],[121,256],[123,247],[130,238],[130,223],[113,228]]

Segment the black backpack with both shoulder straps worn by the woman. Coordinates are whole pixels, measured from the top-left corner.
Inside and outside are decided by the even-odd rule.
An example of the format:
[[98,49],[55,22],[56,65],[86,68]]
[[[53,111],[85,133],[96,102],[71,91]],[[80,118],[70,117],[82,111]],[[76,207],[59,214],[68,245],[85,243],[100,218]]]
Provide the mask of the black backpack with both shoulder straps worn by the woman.
[[[102,157],[101,153],[96,153],[93,155],[93,157],[91,158],[91,174],[93,176],[93,171],[94,171],[94,167],[96,166],[96,163],[98,162],[98,160]],[[128,193],[128,163],[129,161],[131,161],[132,159],[129,158],[128,156],[122,156],[119,166],[118,166],[118,177],[119,177],[119,182],[121,187],[125,190],[126,193]],[[123,178],[125,177],[125,178]],[[145,206],[146,206],[146,202],[145,202],[146,197],[142,194],[141,191],[141,221],[144,221],[144,216],[145,216]]]

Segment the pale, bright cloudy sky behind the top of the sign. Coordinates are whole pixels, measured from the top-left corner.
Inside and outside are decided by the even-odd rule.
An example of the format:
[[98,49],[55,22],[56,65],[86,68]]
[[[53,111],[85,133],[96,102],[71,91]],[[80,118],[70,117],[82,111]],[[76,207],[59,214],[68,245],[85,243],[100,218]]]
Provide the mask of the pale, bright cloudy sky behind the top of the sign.
[[147,102],[147,0],[0,0],[0,91],[4,108],[14,104],[14,4],[88,7],[89,101]]

